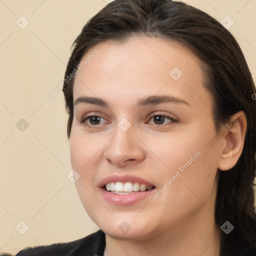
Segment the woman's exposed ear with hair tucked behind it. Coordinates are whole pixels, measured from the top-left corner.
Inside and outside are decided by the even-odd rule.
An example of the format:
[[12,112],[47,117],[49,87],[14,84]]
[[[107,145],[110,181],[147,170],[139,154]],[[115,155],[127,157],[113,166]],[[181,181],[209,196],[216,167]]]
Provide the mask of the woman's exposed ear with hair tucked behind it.
[[225,146],[220,155],[218,168],[228,170],[238,161],[243,148],[246,133],[246,116],[243,111],[233,114],[226,130],[223,131]]

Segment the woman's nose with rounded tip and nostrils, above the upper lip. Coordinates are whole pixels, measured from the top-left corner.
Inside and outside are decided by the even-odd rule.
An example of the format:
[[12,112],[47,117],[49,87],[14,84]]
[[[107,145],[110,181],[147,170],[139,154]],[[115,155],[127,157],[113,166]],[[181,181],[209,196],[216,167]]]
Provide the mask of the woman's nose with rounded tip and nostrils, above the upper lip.
[[126,131],[118,126],[115,135],[107,143],[104,158],[118,167],[139,163],[144,159],[143,143],[134,134],[133,125]]

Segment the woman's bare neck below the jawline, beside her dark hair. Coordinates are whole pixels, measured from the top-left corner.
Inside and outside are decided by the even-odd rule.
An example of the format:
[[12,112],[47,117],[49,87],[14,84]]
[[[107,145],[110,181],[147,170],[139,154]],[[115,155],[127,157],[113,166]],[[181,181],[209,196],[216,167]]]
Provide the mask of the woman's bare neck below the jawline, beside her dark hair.
[[[208,212],[207,212],[208,211]],[[106,234],[107,256],[219,256],[220,228],[207,207],[158,235],[118,240]],[[154,232],[152,232],[154,233]]]

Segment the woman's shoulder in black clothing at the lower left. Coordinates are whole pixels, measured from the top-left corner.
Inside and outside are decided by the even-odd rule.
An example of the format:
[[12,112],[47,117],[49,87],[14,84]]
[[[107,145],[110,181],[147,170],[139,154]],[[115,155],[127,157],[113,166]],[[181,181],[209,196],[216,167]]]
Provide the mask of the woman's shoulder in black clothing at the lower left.
[[27,247],[19,251],[16,256],[93,256],[94,254],[100,256],[103,255],[104,247],[105,234],[102,230],[98,230],[97,232],[71,242]]

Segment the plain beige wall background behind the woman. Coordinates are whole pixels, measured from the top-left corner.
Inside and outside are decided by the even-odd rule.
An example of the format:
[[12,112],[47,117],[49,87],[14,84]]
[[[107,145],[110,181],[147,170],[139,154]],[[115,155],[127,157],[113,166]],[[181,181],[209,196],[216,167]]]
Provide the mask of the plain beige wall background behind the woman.
[[[97,229],[66,177],[71,166],[63,94],[51,100],[46,94],[62,81],[82,26],[107,2],[0,0],[0,251],[71,241]],[[218,21],[231,17],[229,30],[255,77],[256,1],[185,2]],[[21,15],[29,21],[24,29]],[[16,127],[21,118],[29,124],[23,131]],[[21,220],[29,226],[24,234]]]

